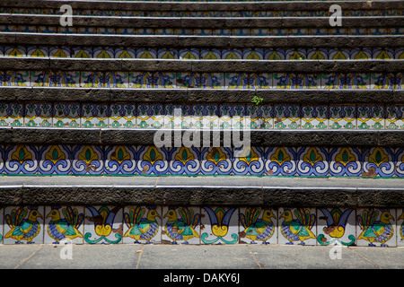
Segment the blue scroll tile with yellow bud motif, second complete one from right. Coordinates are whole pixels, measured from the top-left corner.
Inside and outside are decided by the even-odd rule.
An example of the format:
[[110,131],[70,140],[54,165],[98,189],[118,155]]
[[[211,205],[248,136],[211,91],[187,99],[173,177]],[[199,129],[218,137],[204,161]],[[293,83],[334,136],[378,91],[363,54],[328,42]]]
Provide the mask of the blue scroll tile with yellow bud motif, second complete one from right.
[[331,176],[358,177],[362,172],[362,154],[355,147],[329,148]]

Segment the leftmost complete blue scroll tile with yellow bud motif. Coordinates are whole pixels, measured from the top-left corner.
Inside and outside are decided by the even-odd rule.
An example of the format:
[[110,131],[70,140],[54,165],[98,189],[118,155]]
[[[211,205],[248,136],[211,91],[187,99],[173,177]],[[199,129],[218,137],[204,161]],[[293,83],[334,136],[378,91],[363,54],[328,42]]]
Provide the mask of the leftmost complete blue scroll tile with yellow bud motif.
[[38,171],[38,149],[33,145],[8,145],[4,148],[4,173],[36,174]]

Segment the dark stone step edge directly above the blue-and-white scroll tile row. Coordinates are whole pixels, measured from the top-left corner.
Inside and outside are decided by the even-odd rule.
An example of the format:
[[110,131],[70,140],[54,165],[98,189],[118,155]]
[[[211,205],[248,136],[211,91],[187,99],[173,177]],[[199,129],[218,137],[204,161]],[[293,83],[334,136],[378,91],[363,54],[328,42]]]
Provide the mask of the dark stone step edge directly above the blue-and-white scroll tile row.
[[[163,131],[163,130],[160,130]],[[209,131],[210,132],[210,131]],[[3,144],[99,144],[99,145],[154,145],[154,130],[144,129],[59,129],[59,128],[0,128],[0,143]],[[164,134],[175,142],[178,134],[167,130]],[[181,138],[185,130],[181,131]],[[220,135],[220,144],[224,146],[223,131],[210,133],[213,137]],[[243,132],[241,131],[241,136]],[[199,145],[203,146],[200,136]],[[402,147],[403,131],[390,130],[251,130],[251,146],[356,146],[356,147]]]

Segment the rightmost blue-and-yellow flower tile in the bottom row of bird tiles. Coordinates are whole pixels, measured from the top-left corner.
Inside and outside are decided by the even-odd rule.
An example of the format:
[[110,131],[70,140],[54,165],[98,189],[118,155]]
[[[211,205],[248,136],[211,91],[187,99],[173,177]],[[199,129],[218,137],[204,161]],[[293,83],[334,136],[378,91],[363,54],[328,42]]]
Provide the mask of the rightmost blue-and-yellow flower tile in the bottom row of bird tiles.
[[355,209],[318,208],[317,219],[317,244],[356,245]]

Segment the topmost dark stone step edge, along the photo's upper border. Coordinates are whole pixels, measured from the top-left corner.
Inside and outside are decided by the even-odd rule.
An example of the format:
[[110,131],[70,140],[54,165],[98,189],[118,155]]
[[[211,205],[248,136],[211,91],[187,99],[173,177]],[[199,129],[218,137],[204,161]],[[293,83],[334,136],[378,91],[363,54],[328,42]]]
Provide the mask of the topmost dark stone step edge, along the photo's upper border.
[[[40,13],[60,13],[60,6],[65,4],[53,0],[16,0],[13,2],[1,1],[5,13],[26,13],[20,9],[38,9]],[[338,4],[344,11],[370,12],[389,11],[404,9],[403,1],[69,1],[73,11],[118,11],[119,13],[142,11],[142,12],[210,12],[210,11],[308,11],[329,12],[331,4]],[[114,7],[114,8],[112,8]],[[115,8],[116,7],[116,8]],[[1,10],[3,12],[3,10]],[[35,12],[35,11],[33,11]],[[285,16],[284,14],[280,14]]]

